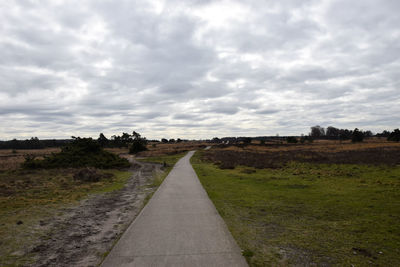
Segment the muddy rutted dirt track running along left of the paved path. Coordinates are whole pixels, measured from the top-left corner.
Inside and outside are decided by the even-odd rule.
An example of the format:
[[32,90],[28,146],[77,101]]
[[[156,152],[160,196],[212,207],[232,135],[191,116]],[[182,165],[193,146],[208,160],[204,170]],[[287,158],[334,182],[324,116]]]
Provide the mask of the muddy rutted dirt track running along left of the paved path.
[[96,266],[140,212],[161,165],[130,159],[133,175],[121,190],[92,196],[61,216],[41,221],[45,234],[28,266]]

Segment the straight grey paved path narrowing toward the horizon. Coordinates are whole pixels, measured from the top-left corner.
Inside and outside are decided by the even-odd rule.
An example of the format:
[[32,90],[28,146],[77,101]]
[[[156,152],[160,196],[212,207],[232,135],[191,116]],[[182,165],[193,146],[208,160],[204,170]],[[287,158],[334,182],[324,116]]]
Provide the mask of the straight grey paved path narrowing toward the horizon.
[[121,266],[247,266],[200,184],[189,152],[103,262]]

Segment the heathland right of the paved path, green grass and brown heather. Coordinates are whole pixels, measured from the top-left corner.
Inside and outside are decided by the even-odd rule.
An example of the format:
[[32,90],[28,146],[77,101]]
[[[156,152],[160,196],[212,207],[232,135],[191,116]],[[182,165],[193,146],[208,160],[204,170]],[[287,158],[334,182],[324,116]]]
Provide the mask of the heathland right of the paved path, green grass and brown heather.
[[400,143],[219,144],[192,163],[251,266],[400,265]]

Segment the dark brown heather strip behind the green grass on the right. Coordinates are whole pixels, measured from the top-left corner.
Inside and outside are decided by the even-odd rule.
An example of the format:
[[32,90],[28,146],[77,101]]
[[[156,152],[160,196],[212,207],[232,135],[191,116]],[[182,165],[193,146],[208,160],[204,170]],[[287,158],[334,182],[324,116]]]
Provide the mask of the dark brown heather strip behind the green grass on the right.
[[400,143],[371,139],[363,143],[318,141],[307,144],[219,145],[204,153],[220,168],[238,165],[280,168],[288,162],[326,164],[400,164]]

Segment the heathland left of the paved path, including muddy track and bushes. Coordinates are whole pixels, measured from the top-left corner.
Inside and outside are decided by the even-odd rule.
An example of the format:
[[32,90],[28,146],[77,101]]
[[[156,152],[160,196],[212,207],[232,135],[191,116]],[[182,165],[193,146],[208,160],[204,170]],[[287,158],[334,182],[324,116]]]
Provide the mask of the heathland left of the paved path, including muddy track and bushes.
[[0,150],[1,266],[71,266],[82,257],[96,265],[182,153],[205,147],[150,143],[137,132],[29,142]]

